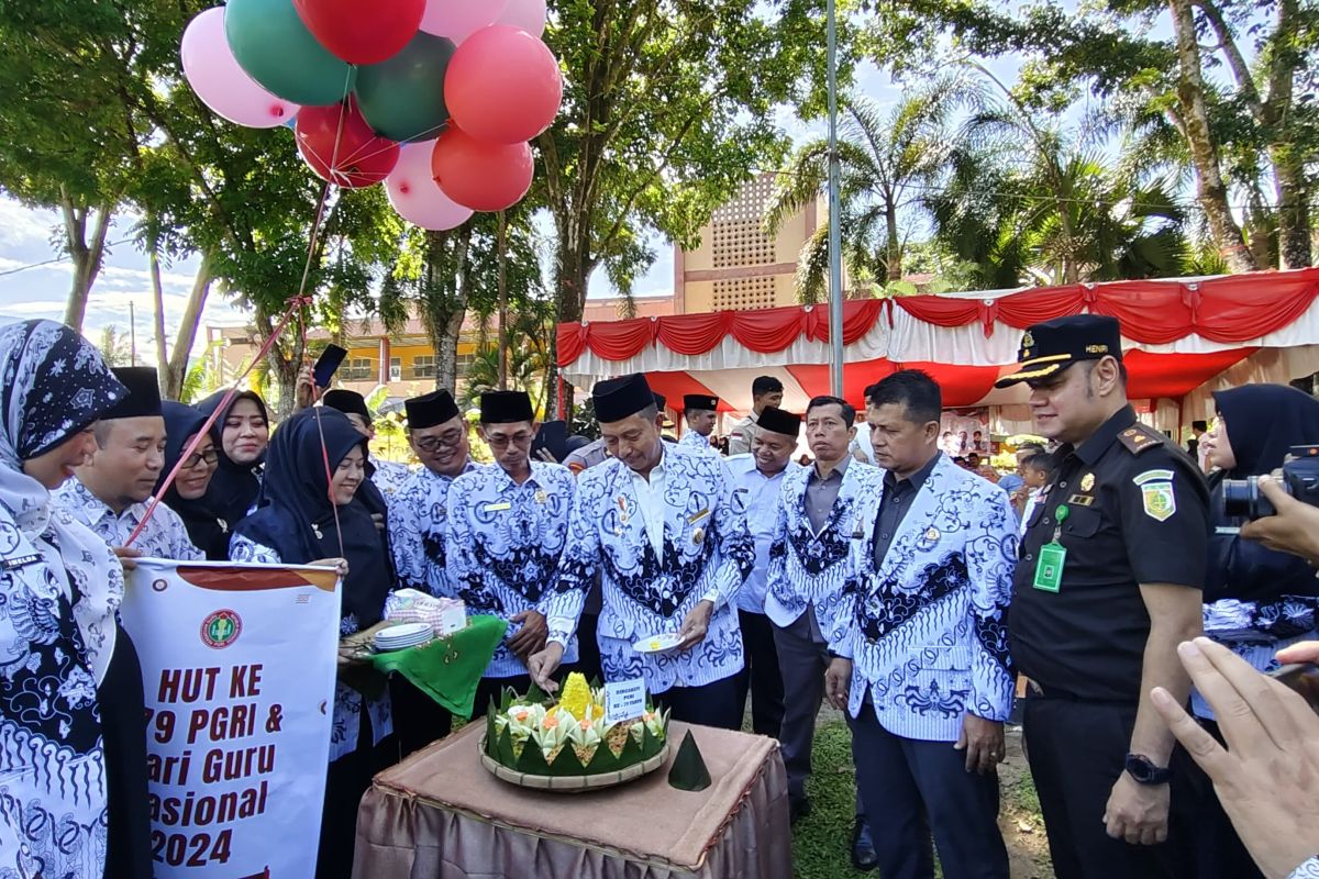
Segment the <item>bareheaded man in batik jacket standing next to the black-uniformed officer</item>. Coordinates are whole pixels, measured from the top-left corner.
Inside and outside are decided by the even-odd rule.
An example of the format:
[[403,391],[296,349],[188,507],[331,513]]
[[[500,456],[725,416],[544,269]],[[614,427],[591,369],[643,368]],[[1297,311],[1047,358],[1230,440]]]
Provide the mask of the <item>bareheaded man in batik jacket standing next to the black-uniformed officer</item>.
[[[859,499],[830,625],[830,701],[885,879],[1008,879],[997,764],[1012,709],[1008,496],[939,451],[939,386],[901,370],[869,389],[878,492]],[[1095,816],[1099,821],[1099,816]]]

